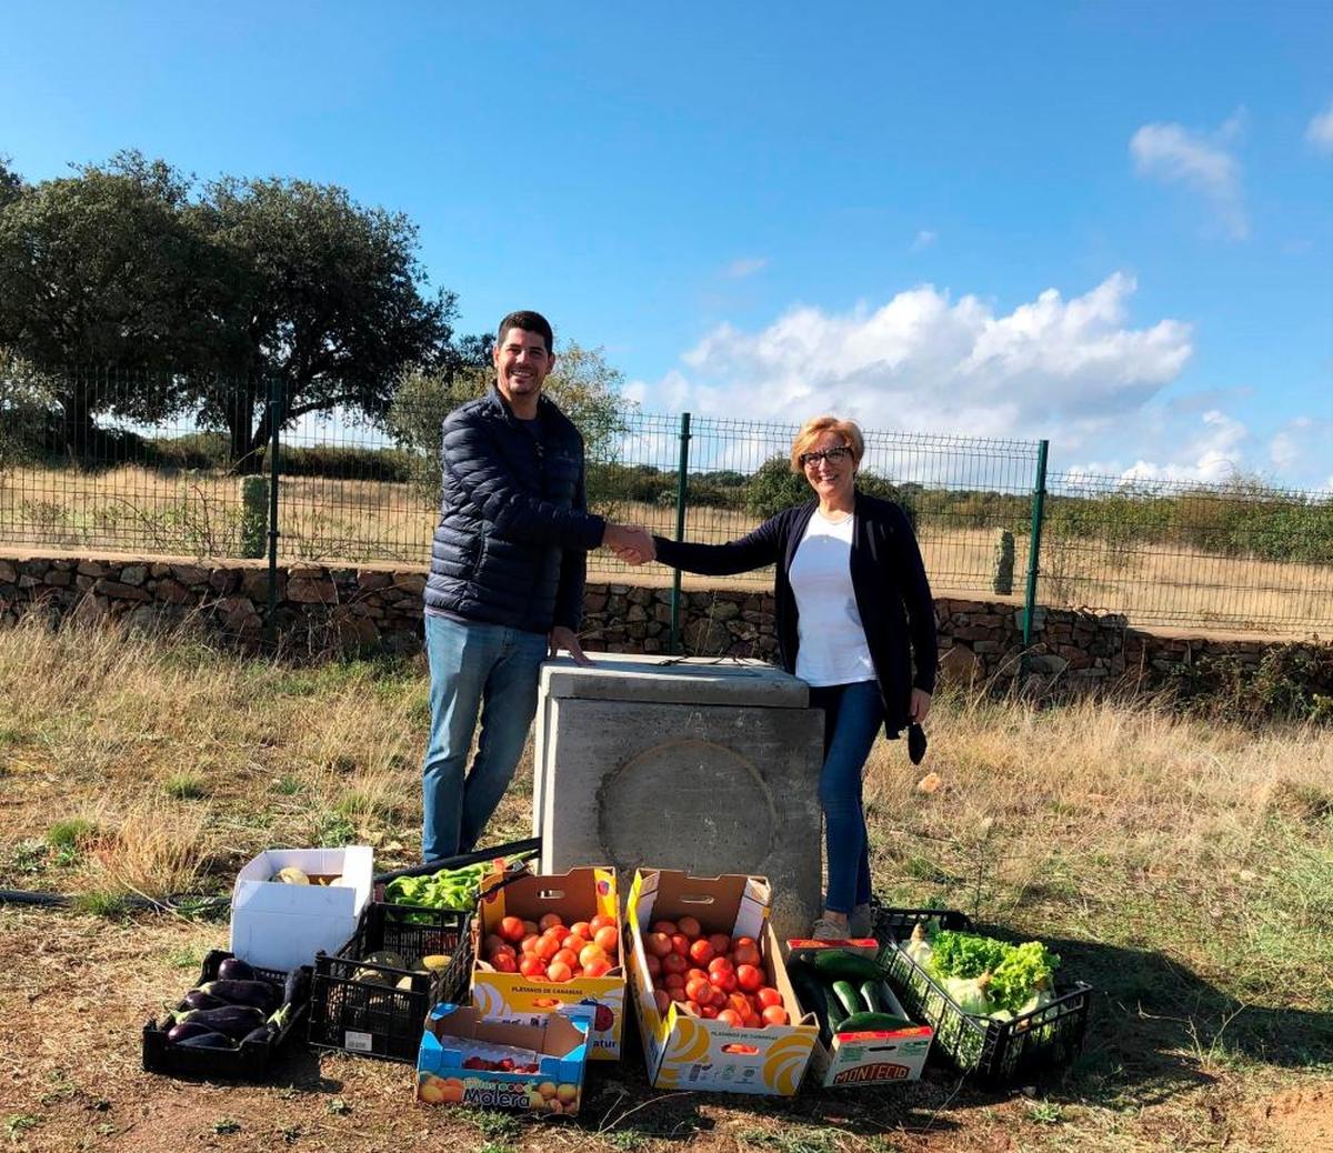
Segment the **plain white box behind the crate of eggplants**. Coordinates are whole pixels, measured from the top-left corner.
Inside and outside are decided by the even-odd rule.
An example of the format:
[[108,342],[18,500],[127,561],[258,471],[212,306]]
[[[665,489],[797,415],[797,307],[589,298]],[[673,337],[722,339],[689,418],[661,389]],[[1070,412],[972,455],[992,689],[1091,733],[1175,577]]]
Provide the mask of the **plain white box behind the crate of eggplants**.
[[[337,885],[287,885],[269,880],[295,865],[308,876],[341,877]],[[336,953],[356,932],[371,898],[375,852],[265,849],[236,874],[232,889],[231,950],[252,965],[291,970],[312,965],[323,949]]]

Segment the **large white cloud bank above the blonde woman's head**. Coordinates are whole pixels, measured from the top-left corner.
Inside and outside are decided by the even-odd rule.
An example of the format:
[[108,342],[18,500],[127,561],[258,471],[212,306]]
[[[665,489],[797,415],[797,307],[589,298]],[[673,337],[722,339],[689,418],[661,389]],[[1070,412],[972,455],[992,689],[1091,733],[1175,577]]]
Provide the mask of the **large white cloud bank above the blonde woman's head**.
[[798,421],[841,412],[868,428],[1036,437],[1060,425],[1065,448],[1176,379],[1189,327],[1126,324],[1134,280],[1109,276],[1084,296],[1054,289],[1009,313],[930,285],[846,313],[797,307],[760,332],[720,325],[645,387],[647,407]]

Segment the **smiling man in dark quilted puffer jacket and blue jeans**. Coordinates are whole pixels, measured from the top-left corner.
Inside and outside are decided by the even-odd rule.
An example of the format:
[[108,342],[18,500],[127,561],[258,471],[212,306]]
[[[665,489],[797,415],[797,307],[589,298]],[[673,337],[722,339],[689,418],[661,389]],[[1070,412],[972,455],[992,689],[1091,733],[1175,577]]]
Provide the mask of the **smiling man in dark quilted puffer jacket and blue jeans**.
[[[492,355],[495,387],[444,421],[444,493],[425,586],[427,861],[471,850],[504,797],[548,652],[591,664],[579,645],[588,549],[652,547],[644,529],[587,512],[583,437],[541,393],[552,345],[545,317],[509,313]],[[464,777],[479,709],[477,754]]]

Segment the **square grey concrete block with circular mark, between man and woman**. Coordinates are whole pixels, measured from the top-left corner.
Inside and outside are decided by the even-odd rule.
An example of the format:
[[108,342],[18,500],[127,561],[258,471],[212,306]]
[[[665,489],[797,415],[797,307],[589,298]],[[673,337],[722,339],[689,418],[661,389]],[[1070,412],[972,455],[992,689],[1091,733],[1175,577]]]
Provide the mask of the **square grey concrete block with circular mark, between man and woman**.
[[[820,910],[824,714],[761,661],[589,653],[541,674],[533,832],[541,870],[611,864],[772,882],[778,936]],[[708,920],[706,913],[700,913]]]

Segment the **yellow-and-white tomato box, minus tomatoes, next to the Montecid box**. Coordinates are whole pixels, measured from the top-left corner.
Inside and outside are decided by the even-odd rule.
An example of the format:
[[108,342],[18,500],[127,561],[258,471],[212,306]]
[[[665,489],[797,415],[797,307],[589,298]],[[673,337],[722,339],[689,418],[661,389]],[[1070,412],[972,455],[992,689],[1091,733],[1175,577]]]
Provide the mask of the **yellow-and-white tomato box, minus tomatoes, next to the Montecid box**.
[[788,1006],[800,1002],[768,921],[770,890],[762,877],[690,877],[673,869],[635,873],[625,906],[629,978],[639,1009],[648,1080],[656,1089],[713,1089],[790,1097],[801,1084],[818,1028],[813,1014],[790,1025],[734,1028],[692,1017],[674,1002],[660,1013],[653,1000],[644,937],[652,924],[693,916],[709,933],[753,937],[764,954],[765,984]]

